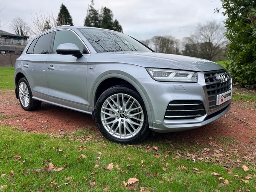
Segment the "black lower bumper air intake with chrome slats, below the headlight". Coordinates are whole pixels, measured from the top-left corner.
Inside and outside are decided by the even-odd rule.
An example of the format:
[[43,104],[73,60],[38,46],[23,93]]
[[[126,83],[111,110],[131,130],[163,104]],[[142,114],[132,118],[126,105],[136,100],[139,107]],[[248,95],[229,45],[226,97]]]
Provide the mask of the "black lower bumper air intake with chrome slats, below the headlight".
[[166,109],[164,119],[195,119],[205,114],[201,101],[172,101]]

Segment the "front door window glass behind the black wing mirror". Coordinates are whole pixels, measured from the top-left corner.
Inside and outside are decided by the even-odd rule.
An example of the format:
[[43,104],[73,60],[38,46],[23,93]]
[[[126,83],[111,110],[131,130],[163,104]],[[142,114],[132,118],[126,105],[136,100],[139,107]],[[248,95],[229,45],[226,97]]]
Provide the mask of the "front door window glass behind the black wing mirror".
[[87,53],[87,49],[85,48],[82,41],[77,37],[77,35],[70,30],[60,30],[56,31],[54,43],[53,43],[53,53],[57,53],[56,49],[60,44],[76,44],[80,49],[81,53]]

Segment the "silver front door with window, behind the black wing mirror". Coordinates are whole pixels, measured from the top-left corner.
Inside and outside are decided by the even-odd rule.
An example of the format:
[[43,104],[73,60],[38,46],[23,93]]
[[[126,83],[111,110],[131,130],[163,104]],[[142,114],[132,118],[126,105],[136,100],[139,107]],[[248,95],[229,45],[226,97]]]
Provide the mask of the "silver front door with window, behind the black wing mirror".
[[72,43],[81,53],[88,53],[84,43],[72,30],[63,29],[55,32],[52,54],[47,58],[47,81],[49,102],[77,111],[88,111],[87,99],[87,62],[90,54],[81,58],[56,53],[58,45]]

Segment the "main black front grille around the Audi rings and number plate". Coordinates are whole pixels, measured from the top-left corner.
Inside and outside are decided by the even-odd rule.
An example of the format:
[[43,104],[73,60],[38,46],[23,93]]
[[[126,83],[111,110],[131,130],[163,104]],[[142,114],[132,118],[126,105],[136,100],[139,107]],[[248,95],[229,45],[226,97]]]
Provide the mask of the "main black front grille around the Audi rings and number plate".
[[[227,81],[222,82],[223,76],[227,77]],[[221,80],[218,80],[218,77]],[[225,93],[232,89],[232,79],[230,75],[226,71],[218,73],[205,73],[204,79],[207,87],[209,108],[214,109],[221,106],[216,105],[217,95]],[[222,105],[224,105],[224,103]]]

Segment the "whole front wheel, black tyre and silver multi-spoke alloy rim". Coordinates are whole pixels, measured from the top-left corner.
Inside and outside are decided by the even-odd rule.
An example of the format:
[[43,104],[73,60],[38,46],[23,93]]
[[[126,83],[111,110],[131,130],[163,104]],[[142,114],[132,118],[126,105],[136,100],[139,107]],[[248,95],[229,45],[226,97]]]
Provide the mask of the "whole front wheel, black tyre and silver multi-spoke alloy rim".
[[113,86],[99,97],[95,120],[108,140],[135,144],[149,133],[148,116],[140,95],[125,85]]

